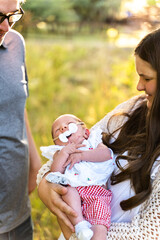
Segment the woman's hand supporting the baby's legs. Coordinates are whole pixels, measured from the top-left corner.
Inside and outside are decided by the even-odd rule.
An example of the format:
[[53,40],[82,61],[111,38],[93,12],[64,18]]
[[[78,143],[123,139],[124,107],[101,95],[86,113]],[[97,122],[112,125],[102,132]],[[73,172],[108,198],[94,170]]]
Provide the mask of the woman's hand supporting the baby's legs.
[[76,217],[77,214],[62,200],[61,196],[66,193],[66,187],[55,183],[49,183],[45,177],[41,180],[38,187],[38,194],[42,202],[54,215],[56,215],[67,227],[69,227],[72,232],[74,232],[74,227],[67,215]]

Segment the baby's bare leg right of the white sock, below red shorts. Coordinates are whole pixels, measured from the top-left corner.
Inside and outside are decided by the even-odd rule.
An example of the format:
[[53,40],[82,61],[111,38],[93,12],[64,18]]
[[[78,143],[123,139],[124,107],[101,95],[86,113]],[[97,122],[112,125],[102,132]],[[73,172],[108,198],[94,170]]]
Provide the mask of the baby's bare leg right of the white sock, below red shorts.
[[92,226],[93,237],[91,240],[106,240],[107,239],[107,228],[104,225],[93,225]]

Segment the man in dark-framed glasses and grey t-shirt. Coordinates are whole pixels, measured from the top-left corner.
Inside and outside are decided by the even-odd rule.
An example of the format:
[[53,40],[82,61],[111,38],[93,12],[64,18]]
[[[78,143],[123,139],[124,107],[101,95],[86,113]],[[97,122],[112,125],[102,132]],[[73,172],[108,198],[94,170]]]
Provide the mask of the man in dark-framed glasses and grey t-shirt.
[[0,240],[31,240],[29,193],[40,157],[27,112],[28,82],[22,36],[12,26],[22,0],[0,0]]

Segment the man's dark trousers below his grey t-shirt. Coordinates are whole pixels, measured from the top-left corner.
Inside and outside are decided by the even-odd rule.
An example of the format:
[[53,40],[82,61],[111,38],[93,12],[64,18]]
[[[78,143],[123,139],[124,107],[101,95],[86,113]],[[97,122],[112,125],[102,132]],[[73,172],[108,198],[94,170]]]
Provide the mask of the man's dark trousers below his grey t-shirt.
[[33,224],[29,217],[21,225],[14,228],[10,232],[0,234],[0,240],[32,240],[33,239]]

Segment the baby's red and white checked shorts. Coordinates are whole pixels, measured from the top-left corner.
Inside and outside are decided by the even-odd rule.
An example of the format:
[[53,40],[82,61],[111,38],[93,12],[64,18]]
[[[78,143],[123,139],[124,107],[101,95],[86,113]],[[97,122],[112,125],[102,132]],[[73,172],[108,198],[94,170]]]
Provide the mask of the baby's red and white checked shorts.
[[107,229],[111,223],[110,202],[112,193],[101,186],[77,187],[82,201],[82,214],[92,225],[105,225]]

